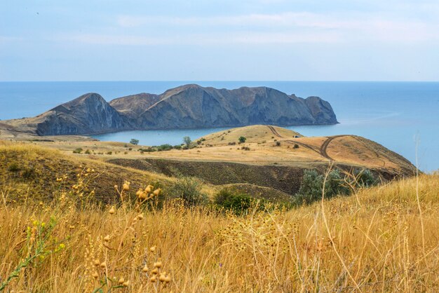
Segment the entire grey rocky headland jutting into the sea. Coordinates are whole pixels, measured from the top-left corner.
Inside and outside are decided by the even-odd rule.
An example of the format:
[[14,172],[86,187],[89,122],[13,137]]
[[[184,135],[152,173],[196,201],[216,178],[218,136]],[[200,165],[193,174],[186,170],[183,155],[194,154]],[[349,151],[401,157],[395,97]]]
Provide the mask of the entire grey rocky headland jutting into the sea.
[[13,125],[37,135],[81,135],[120,130],[210,128],[252,124],[335,124],[330,104],[273,88],[236,90],[186,85],[161,95],[142,93],[107,103],[89,93]]

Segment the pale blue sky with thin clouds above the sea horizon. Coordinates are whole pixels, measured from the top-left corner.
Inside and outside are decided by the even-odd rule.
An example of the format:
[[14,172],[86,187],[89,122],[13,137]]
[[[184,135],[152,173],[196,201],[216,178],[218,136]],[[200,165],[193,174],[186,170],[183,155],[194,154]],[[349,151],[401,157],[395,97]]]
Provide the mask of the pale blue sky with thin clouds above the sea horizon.
[[438,81],[437,0],[0,0],[0,81]]

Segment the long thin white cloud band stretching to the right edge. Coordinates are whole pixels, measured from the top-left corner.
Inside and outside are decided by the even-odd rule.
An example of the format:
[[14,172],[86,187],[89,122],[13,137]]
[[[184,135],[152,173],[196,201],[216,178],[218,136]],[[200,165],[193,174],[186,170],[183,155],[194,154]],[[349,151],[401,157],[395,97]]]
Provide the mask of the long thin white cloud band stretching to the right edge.
[[[183,31],[196,32],[199,29],[210,29],[215,32],[252,32],[261,34],[260,40],[272,43],[276,34],[300,35],[299,39],[318,42],[337,39],[356,41],[413,42],[439,40],[439,23],[428,23],[420,20],[396,18],[393,15],[374,15],[356,13],[352,15],[335,15],[307,12],[285,12],[273,14],[248,14],[215,17],[173,18],[168,16],[139,17],[121,15],[117,20],[123,28],[151,27],[161,29],[163,26]],[[265,31],[275,32],[275,36],[264,36]],[[306,35],[306,38],[304,37]],[[313,40],[316,37],[318,39]],[[238,38],[239,39],[239,38]],[[252,38],[248,38],[252,39]],[[288,38],[295,39],[295,38]]]

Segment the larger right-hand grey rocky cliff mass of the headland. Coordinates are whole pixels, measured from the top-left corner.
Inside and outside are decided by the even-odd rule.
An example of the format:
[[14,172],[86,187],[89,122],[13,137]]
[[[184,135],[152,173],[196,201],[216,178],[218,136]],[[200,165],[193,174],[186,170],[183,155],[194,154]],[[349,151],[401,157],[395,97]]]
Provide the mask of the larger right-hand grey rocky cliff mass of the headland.
[[329,103],[272,88],[218,90],[196,85],[168,90],[136,117],[140,128],[203,128],[252,124],[335,124]]

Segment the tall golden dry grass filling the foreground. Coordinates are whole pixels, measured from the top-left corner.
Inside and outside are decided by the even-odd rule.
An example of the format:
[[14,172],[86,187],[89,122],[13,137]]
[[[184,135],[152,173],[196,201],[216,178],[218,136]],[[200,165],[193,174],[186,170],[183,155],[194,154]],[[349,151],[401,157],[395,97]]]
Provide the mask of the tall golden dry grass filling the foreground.
[[[60,189],[50,205],[1,205],[1,282],[20,261],[36,256],[6,290],[439,290],[438,175],[295,210],[250,212],[243,217],[203,207],[188,209],[177,202],[163,210],[144,204],[119,205],[114,214],[109,206],[79,210],[74,206],[75,192],[69,186]],[[2,196],[7,196],[4,191]],[[39,231],[43,236],[55,221],[53,231],[41,241]],[[45,253],[35,253],[38,243]],[[151,282],[157,261],[159,273],[166,271],[163,282]]]

